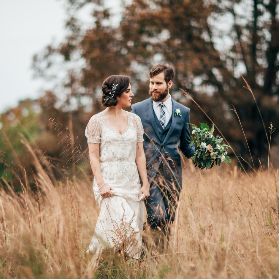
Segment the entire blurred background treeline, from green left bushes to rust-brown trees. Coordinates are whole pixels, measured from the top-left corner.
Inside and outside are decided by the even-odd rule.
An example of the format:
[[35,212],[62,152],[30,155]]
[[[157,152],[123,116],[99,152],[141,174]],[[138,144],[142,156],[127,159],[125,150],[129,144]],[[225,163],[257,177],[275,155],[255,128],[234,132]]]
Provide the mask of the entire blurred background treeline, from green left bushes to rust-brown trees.
[[[83,167],[77,154],[87,148],[89,118],[102,110],[102,81],[111,74],[130,75],[133,102],[138,102],[148,97],[150,67],[160,63],[174,68],[172,98],[191,108],[192,123],[211,124],[180,88],[237,155],[255,168],[267,165],[268,127],[272,122],[277,128],[279,114],[278,0],[130,0],[119,1],[114,11],[101,0],[65,0],[65,5],[67,37],[33,60],[37,77],[56,78],[60,86],[1,114],[3,185],[3,179],[20,185],[18,177],[36,172],[26,140],[50,176]],[[90,26],[82,21],[88,9]],[[278,142],[276,129],[271,138],[275,155]],[[273,164],[277,158],[272,157]]]

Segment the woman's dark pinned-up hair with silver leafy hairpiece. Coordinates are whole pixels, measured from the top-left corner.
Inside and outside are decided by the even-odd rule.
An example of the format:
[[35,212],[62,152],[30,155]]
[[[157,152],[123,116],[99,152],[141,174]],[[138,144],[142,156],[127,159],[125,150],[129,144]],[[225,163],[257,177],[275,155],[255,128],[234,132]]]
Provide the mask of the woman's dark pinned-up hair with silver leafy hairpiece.
[[122,75],[113,75],[106,78],[102,84],[102,105],[104,107],[116,106],[118,97],[129,87],[130,81],[130,77]]

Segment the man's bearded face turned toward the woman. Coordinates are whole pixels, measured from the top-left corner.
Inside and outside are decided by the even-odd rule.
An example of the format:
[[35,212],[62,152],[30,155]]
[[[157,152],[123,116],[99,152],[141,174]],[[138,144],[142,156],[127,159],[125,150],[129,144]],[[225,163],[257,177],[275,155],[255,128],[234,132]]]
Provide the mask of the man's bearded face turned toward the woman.
[[172,86],[172,81],[167,84],[165,81],[165,74],[161,72],[151,77],[149,80],[149,95],[155,102],[161,102],[167,99],[169,88]]

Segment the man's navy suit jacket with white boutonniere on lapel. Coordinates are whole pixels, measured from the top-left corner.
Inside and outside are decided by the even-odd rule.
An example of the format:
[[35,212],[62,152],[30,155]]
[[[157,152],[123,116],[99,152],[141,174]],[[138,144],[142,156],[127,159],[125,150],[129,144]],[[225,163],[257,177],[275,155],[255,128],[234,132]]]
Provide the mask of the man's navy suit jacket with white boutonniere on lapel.
[[[180,109],[181,117],[179,115],[174,116],[177,108]],[[172,99],[172,124],[163,141],[155,122],[151,98],[133,104],[131,112],[137,114],[142,121],[144,129],[143,147],[149,183],[152,182],[161,161],[163,161],[164,166],[166,166],[164,167],[164,178],[169,178],[170,182],[174,182],[176,187],[181,188],[182,175],[179,150],[187,158],[190,158],[195,152],[194,145],[190,147],[190,126],[187,124],[190,123],[190,109]]]

